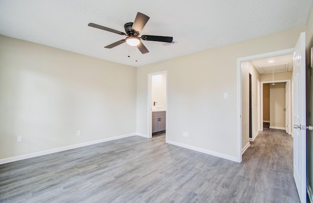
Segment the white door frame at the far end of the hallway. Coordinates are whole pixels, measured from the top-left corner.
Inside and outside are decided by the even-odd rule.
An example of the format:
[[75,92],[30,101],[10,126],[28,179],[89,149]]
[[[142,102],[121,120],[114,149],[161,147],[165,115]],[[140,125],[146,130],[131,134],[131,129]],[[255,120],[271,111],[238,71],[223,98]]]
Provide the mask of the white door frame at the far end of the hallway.
[[[266,84],[266,83],[272,83],[273,81],[261,81],[261,98],[262,98],[262,101],[261,101],[261,115],[260,115],[260,120],[263,121],[263,84]],[[278,81],[274,81],[274,83],[277,83],[277,82],[286,82],[287,85],[288,85],[288,134],[291,135],[291,126],[292,126],[292,123],[291,123],[291,80],[278,80]],[[286,98],[285,98],[286,99]],[[286,118],[285,118],[286,120]],[[261,130],[260,131],[263,131],[263,125],[261,125]]]

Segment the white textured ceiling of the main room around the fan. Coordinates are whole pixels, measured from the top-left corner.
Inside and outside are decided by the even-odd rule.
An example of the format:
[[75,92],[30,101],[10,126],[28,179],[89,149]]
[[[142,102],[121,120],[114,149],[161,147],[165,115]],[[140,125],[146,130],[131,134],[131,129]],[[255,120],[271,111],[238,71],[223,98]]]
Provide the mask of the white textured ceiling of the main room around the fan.
[[[312,0],[0,0],[0,34],[141,66],[303,26],[311,5]],[[125,32],[137,12],[150,17],[141,34],[172,36],[177,43],[143,41],[147,54],[126,43],[106,49],[124,36],[88,26]]]

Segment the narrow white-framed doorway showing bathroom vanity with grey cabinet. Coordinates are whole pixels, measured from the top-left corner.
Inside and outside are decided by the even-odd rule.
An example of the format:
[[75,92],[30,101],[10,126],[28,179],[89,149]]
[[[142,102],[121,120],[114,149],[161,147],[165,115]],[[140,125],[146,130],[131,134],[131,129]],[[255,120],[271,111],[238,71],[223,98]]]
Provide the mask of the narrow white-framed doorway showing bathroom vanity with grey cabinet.
[[164,134],[167,126],[167,71],[148,74],[147,106],[148,138]]

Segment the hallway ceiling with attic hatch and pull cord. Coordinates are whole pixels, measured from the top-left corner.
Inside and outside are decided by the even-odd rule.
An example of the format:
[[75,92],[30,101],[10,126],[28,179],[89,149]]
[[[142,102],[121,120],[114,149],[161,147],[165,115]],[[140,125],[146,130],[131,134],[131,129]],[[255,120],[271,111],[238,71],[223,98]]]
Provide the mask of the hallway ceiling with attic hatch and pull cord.
[[292,54],[270,57],[265,59],[258,59],[250,62],[260,74],[273,73],[273,71],[274,73],[287,72],[292,71],[293,69]]

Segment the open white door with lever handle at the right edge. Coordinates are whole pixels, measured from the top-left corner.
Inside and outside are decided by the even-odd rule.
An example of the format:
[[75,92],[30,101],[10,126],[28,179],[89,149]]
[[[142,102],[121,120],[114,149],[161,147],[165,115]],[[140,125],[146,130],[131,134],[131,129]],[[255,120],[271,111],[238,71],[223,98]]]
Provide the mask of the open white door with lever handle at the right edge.
[[293,53],[293,177],[301,203],[306,203],[306,76],[305,33]]

